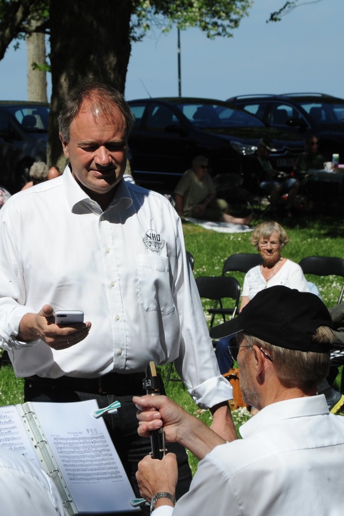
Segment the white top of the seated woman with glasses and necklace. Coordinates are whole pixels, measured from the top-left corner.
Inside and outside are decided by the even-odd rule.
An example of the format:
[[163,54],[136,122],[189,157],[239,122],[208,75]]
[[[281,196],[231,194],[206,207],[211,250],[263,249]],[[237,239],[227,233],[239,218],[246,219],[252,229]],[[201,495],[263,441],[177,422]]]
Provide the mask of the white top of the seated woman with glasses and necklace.
[[258,292],[275,285],[284,285],[289,288],[296,288],[300,292],[309,292],[307,281],[300,265],[291,260],[286,260],[286,263],[269,281],[263,278],[260,265],[249,269],[244,278],[241,295],[247,296],[251,301]]

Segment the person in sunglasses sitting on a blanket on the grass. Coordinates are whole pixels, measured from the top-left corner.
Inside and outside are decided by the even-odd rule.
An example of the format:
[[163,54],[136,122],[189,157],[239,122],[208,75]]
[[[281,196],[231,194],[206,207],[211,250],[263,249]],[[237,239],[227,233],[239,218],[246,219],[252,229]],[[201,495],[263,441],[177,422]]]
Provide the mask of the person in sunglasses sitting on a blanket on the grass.
[[224,199],[215,199],[215,186],[208,173],[208,158],[197,156],[175,188],[176,209],[180,216],[216,220],[231,224],[249,224],[248,217],[232,217]]

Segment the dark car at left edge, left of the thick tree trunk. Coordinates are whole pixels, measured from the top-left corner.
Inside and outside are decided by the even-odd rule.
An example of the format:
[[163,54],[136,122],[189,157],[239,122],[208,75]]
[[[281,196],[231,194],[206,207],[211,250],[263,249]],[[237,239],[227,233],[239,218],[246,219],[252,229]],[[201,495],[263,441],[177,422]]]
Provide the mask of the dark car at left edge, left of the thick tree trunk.
[[0,185],[11,193],[27,182],[35,161],[46,161],[49,105],[0,102]]

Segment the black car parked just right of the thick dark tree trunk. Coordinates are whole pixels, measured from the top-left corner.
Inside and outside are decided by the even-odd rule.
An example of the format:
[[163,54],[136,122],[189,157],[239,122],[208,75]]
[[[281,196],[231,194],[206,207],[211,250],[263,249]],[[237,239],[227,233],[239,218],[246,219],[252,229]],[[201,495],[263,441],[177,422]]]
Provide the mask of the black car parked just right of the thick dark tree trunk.
[[291,170],[304,149],[303,138],[267,127],[228,102],[177,97],[133,100],[129,105],[135,116],[129,137],[134,179],[159,191],[173,190],[198,155],[209,158],[213,176],[245,175],[247,157],[264,136],[277,149],[271,161],[279,170]]

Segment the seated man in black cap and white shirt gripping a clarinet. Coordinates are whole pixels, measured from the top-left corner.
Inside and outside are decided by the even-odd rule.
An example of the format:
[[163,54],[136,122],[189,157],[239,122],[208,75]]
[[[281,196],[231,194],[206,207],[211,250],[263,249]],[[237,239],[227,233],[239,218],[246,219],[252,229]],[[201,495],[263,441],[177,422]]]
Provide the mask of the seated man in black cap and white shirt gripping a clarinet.
[[[173,454],[145,457],[136,473],[154,516],[329,516],[342,513],[344,417],[330,414],[317,384],[330,365],[333,322],[314,294],[285,286],[259,292],[211,337],[236,334],[244,400],[260,412],[225,442],[164,396],[135,397],[138,432],[164,427],[201,462],[176,503]],[[168,448],[168,445],[167,445]]]

